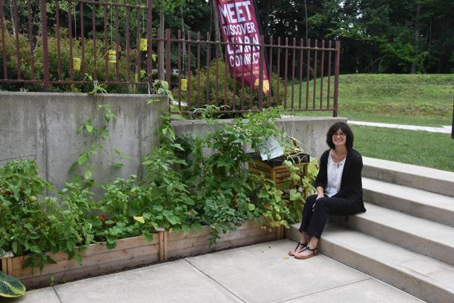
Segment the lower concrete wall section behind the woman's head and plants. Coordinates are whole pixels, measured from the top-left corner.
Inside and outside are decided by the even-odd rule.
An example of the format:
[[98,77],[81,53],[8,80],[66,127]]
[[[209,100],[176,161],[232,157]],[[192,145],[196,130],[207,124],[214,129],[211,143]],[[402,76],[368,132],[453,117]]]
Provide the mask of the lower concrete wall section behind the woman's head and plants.
[[[310,156],[319,158],[322,153],[328,149],[326,145],[326,132],[333,123],[343,121],[345,118],[332,117],[290,117],[277,119],[277,125],[288,133],[291,137],[301,142],[301,148]],[[226,119],[226,123],[231,123]],[[205,134],[214,129],[214,126],[207,124],[202,120],[193,121],[172,121],[177,135],[184,133]]]

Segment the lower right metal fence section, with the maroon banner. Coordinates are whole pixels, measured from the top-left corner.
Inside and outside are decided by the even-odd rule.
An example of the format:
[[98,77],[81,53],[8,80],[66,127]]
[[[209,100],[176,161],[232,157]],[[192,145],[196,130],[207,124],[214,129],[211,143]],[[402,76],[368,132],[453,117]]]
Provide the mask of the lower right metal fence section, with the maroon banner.
[[[174,97],[177,99],[178,112],[187,112],[191,108],[202,105],[217,105],[224,112],[249,112],[261,110],[263,107],[282,106],[290,111],[332,111],[337,116],[338,108],[338,80],[340,48],[339,41],[308,39],[282,39],[273,37],[265,43],[260,36],[259,43],[232,43],[221,42],[216,36],[210,41],[201,39],[200,32],[197,38],[191,39],[181,32],[172,38],[170,29],[165,31],[165,79],[173,83]],[[160,39],[158,39],[160,40]],[[252,39],[250,39],[252,41]],[[263,72],[259,73],[259,87],[245,85],[244,79],[233,81],[228,72],[227,45],[231,49],[238,46],[252,46],[261,50],[260,62],[268,60],[269,81],[271,93],[263,93]],[[186,48],[186,52],[183,50]],[[172,56],[172,51],[177,54]],[[267,53],[267,56],[263,53]],[[184,54],[186,53],[186,64]],[[202,56],[201,54],[205,54]],[[195,62],[191,61],[191,58]],[[268,57],[268,58],[267,58]],[[195,65],[195,73],[192,66]],[[251,61],[252,71],[252,61]],[[261,66],[261,64],[260,64]],[[184,81],[184,85],[181,85]],[[187,84],[186,84],[187,83]],[[187,86],[186,90],[184,86]],[[183,89],[181,89],[183,88]]]

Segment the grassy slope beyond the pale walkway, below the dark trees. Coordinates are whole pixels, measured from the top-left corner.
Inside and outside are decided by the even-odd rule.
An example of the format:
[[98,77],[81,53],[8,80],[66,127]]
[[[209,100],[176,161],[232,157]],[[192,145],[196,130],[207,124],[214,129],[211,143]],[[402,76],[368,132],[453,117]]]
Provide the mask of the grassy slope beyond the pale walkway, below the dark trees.
[[[326,81],[325,78],[325,92]],[[311,106],[312,81],[309,87],[309,105]],[[317,87],[319,87],[319,80],[317,80]],[[295,86],[294,93],[298,100],[299,86]],[[339,79],[338,116],[356,121],[419,126],[451,125],[453,99],[454,74],[347,74],[341,75]],[[305,83],[303,83],[303,100],[305,100]],[[287,102],[289,103],[289,100]],[[317,93],[316,105],[319,105],[319,93]],[[326,105],[326,93],[324,93],[324,105]],[[331,112],[302,112],[297,115],[328,116],[330,114]]]

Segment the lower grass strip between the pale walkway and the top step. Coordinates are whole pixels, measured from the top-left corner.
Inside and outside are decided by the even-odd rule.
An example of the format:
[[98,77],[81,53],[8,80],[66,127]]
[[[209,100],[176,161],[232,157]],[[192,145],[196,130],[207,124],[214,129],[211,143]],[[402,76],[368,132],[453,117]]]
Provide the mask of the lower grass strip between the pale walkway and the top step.
[[355,149],[363,156],[454,171],[454,140],[449,134],[351,126]]

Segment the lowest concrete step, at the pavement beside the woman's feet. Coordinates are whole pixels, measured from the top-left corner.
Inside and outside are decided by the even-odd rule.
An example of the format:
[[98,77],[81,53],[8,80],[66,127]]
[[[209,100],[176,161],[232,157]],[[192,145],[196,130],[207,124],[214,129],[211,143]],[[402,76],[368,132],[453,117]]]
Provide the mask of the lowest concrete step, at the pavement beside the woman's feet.
[[[298,241],[298,227],[292,224],[286,230],[287,238]],[[326,225],[319,248],[333,260],[427,302],[454,302],[452,265],[334,223]]]

